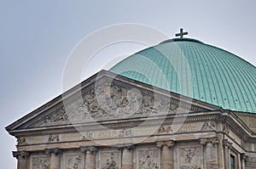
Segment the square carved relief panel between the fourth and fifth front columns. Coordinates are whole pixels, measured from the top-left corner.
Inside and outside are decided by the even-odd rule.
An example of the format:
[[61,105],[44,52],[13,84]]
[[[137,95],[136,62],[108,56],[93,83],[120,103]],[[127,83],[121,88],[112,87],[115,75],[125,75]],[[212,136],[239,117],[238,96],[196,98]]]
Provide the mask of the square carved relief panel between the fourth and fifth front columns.
[[160,149],[139,149],[137,150],[138,169],[159,169]]

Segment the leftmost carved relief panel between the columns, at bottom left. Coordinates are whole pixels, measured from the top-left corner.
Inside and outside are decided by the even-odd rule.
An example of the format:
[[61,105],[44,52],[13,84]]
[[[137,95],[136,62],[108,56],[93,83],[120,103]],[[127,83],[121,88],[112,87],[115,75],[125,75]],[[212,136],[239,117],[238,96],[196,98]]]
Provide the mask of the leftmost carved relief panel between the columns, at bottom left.
[[49,157],[32,156],[31,169],[49,169]]

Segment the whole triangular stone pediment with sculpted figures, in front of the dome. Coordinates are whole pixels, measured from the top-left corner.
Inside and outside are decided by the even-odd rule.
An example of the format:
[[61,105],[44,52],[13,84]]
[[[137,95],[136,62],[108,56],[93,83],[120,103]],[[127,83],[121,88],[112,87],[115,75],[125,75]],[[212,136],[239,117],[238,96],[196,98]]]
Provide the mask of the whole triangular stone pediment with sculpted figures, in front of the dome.
[[8,131],[69,126],[91,121],[113,121],[154,115],[219,110],[102,70],[38,110],[15,121]]

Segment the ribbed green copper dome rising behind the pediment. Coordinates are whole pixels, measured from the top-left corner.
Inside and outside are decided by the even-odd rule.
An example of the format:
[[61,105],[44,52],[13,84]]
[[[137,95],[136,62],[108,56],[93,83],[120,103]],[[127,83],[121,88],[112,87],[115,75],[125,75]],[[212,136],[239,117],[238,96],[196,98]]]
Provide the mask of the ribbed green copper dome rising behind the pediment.
[[195,39],[161,42],[110,71],[224,109],[256,113],[256,67]]

